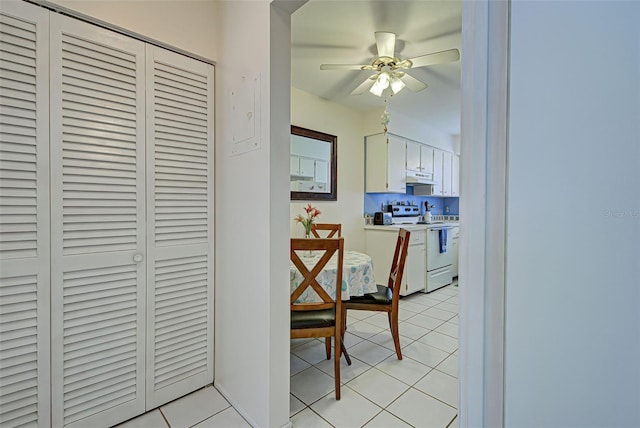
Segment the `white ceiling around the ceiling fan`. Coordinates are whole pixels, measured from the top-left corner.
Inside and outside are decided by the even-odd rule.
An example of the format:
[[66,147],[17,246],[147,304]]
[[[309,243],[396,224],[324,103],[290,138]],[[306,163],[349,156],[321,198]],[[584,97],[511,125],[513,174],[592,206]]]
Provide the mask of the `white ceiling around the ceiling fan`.
[[[363,111],[384,106],[368,91],[349,95],[372,72],[320,70],[320,64],[370,64],[376,31],[397,35],[396,56],[413,58],[460,49],[462,1],[310,0],[291,19],[291,84],[305,92]],[[403,89],[390,109],[440,131],[460,134],[460,61],[409,70],[427,83],[421,92]],[[386,91],[388,92],[388,91]]]

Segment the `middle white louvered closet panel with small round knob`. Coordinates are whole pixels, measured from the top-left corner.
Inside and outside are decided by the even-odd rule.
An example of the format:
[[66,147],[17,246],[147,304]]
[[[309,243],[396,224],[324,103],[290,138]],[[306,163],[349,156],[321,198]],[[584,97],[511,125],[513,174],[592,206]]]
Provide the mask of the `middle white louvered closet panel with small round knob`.
[[53,426],[144,411],[144,44],[51,16]]

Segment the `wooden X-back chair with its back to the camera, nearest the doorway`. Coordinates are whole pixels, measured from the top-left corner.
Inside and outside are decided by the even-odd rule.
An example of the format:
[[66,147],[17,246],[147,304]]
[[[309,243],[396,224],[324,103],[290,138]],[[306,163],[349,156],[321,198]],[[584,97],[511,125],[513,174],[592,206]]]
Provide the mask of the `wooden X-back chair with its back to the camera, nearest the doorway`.
[[[323,252],[320,260],[309,270],[296,251]],[[318,283],[316,277],[331,257],[337,253],[335,299]],[[291,293],[291,338],[324,337],[327,344],[327,359],[330,358],[331,337],[334,338],[334,377],[336,400],[340,399],[340,355],[342,346],[342,269],[344,238],[338,239],[297,239],[291,238],[291,261],[300,271],[303,280]],[[296,303],[307,289],[312,288],[321,302]]]

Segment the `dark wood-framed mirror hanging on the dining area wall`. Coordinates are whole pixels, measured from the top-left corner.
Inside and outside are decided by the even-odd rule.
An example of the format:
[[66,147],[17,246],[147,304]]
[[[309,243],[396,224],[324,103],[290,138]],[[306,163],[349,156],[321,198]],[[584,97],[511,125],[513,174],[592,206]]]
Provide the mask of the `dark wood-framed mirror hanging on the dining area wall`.
[[337,195],[335,135],[291,125],[290,184],[292,201],[335,201]]

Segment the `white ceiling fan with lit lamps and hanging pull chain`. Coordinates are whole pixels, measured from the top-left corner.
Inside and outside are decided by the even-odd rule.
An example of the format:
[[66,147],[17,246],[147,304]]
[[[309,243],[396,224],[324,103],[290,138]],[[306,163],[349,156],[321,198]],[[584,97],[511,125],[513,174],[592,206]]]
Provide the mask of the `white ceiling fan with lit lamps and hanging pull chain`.
[[322,64],[320,70],[366,70],[376,73],[369,76],[362,84],[355,88],[351,95],[359,95],[369,89],[374,95],[382,96],[385,89],[391,88],[394,94],[405,86],[414,92],[421,91],[427,84],[410,76],[404,70],[428,65],[443,64],[460,59],[458,49],[449,49],[401,60],[394,54],[396,35],[386,31],[376,31],[376,47],[378,56],[371,65],[365,64]]

